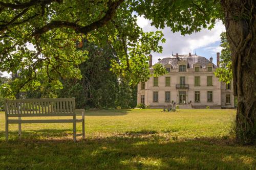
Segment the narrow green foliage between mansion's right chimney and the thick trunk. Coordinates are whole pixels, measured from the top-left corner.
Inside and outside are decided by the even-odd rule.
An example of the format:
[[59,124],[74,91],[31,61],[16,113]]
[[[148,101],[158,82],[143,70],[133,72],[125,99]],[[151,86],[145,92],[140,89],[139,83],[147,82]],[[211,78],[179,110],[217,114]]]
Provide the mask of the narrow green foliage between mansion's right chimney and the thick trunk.
[[227,41],[226,32],[221,33],[221,56],[220,56],[220,68],[216,69],[215,76],[219,78],[219,81],[230,83],[232,80],[232,63],[231,63],[231,50]]

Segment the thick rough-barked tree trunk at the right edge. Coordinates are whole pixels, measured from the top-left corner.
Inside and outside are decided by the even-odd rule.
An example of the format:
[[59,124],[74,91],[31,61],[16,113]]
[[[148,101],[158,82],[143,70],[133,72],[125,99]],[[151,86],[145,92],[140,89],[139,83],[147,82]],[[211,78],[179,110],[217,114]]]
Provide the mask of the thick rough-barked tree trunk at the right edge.
[[238,96],[237,139],[256,140],[256,1],[221,0],[232,52],[233,88]]

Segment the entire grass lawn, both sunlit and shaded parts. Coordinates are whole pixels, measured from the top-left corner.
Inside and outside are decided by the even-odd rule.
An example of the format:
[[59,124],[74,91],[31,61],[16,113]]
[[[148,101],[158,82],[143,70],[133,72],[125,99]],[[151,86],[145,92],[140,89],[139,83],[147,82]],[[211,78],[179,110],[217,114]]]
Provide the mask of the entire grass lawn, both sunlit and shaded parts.
[[85,141],[73,142],[72,124],[23,124],[21,140],[18,126],[9,126],[7,143],[0,112],[0,169],[255,169],[256,147],[229,136],[234,116],[235,110],[87,111]]

